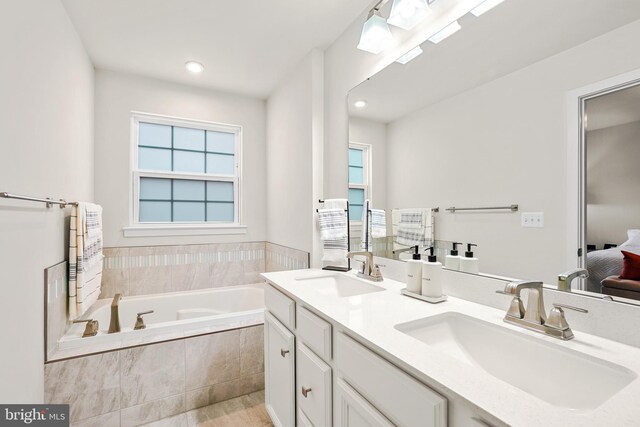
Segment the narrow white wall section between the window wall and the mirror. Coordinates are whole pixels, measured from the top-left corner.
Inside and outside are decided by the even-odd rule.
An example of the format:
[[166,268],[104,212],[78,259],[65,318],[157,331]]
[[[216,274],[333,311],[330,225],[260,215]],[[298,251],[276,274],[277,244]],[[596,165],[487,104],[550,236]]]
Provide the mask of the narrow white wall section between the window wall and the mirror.
[[322,66],[322,53],[312,51],[267,101],[267,240],[316,256],[313,212],[322,197]]

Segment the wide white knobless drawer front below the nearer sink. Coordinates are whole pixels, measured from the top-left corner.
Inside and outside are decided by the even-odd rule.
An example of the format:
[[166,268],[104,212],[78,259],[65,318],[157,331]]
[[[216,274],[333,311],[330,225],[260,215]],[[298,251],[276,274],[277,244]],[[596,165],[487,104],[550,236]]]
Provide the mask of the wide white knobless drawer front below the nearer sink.
[[338,376],[398,426],[446,426],[447,400],[344,334],[336,343]]

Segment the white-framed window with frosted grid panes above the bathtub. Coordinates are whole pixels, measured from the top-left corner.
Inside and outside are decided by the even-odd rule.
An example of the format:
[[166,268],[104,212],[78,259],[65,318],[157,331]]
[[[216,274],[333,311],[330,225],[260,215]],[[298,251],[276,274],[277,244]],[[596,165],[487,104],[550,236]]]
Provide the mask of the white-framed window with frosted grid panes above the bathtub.
[[239,225],[239,126],[143,114],[132,126],[132,228]]

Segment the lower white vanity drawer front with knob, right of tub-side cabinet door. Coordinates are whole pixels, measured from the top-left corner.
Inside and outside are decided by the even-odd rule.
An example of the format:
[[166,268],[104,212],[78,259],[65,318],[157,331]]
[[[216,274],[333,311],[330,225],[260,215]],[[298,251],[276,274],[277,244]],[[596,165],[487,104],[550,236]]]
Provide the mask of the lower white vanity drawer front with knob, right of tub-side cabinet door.
[[[316,427],[328,427],[332,424],[331,368],[300,343],[296,352],[296,402],[299,425],[311,422]],[[300,415],[306,419],[300,419]]]

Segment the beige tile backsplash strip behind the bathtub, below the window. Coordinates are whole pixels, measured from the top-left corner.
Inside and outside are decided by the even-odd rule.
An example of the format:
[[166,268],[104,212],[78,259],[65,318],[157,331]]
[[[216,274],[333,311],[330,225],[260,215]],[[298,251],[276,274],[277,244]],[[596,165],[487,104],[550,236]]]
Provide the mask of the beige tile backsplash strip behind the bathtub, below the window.
[[265,271],[309,268],[309,254],[268,242],[105,248],[101,298],[261,282]]

